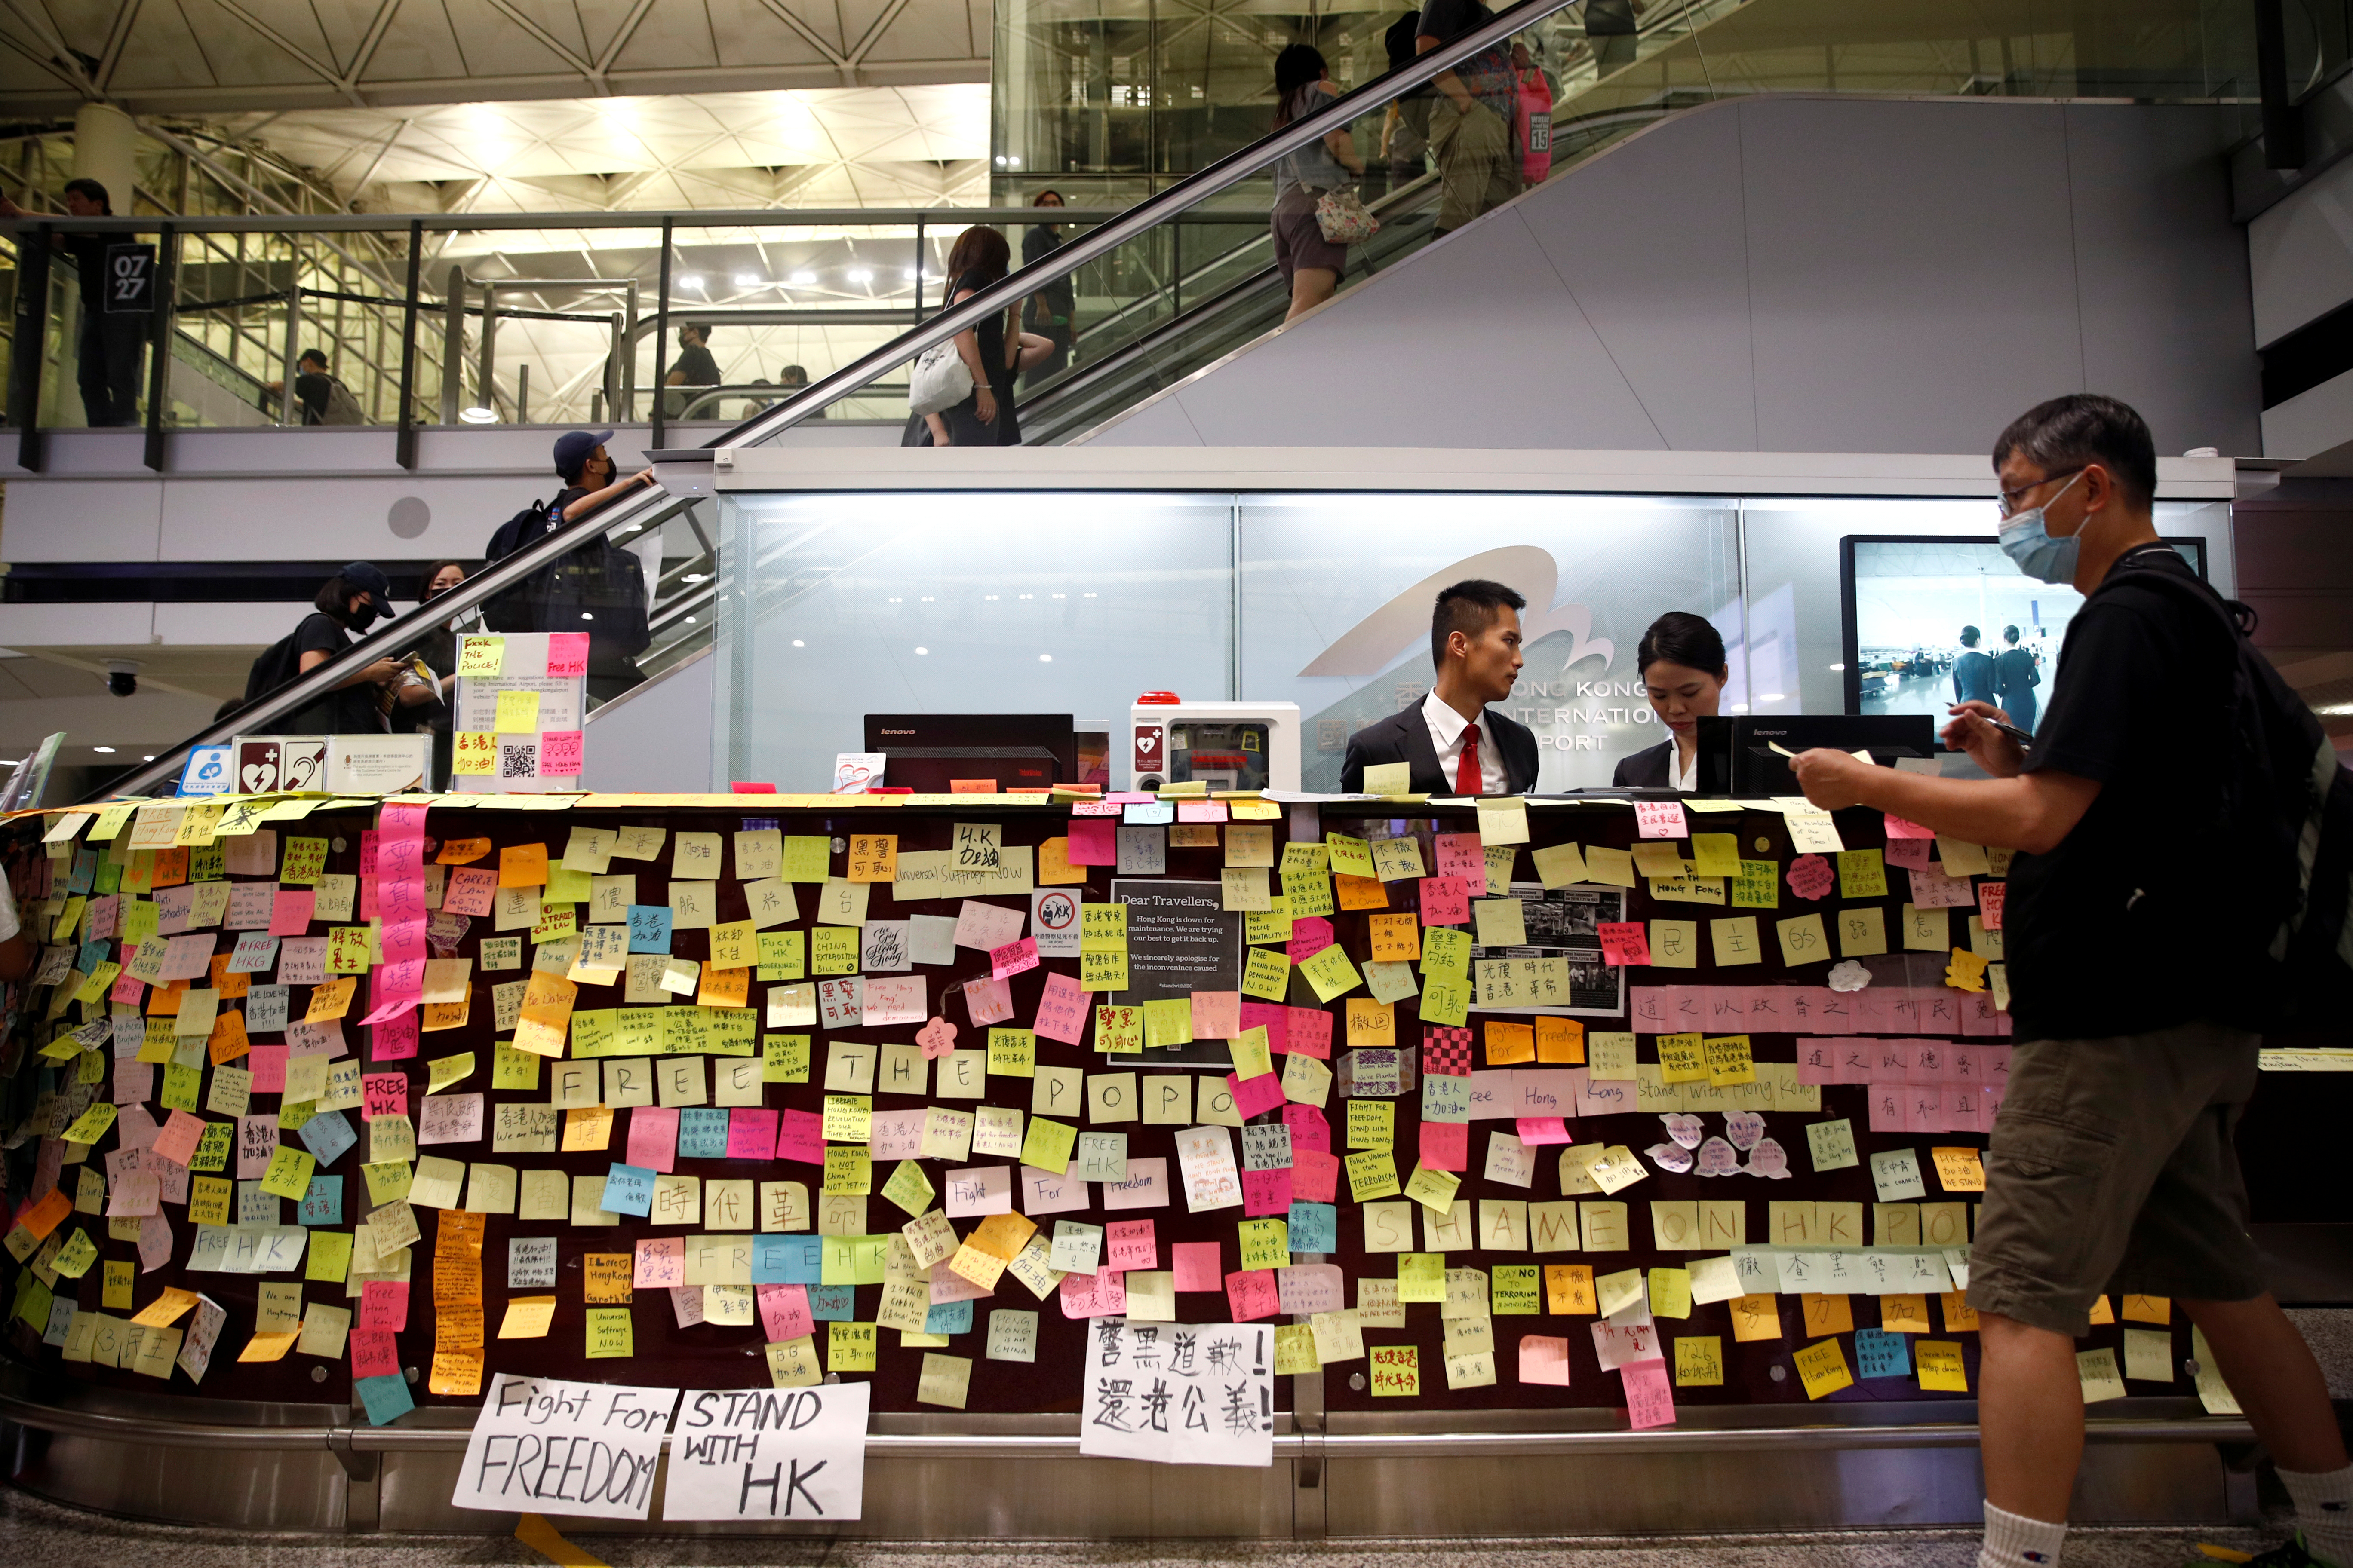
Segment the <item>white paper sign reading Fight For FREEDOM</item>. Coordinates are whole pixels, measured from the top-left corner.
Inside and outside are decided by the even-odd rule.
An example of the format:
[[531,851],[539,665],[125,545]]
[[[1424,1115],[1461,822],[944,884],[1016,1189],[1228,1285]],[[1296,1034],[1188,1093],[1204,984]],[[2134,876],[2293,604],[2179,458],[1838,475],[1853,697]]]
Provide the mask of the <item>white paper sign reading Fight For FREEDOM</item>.
[[678,1389],[499,1373],[466,1439],[452,1507],[645,1519]]

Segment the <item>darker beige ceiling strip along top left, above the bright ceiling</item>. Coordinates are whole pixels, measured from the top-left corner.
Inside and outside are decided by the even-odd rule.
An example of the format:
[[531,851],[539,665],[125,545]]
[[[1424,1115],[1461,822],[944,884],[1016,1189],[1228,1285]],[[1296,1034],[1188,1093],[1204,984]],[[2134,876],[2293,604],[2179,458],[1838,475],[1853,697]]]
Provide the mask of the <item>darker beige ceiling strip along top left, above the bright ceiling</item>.
[[988,80],[988,0],[0,0],[0,106],[148,115]]

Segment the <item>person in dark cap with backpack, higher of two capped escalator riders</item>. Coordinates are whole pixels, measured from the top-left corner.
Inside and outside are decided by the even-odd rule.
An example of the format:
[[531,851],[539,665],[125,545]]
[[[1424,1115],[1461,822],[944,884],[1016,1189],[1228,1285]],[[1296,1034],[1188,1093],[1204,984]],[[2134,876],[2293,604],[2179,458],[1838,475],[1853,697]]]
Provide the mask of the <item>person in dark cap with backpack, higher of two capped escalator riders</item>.
[[[555,437],[555,475],[565,482],[553,501],[534,501],[489,536],[487,562],[501,562],[555,529],[574,527],[619,496],[654,482],[654,470],[614,477],[605,451],[612,430],[567,430]],[[588,632],[588,693],[609,701],[645,682],[633,663],[654,632],[645,621],[645,567],[602,534],[581,538],[553,567],[492,597],[482,621],[494,632]]]

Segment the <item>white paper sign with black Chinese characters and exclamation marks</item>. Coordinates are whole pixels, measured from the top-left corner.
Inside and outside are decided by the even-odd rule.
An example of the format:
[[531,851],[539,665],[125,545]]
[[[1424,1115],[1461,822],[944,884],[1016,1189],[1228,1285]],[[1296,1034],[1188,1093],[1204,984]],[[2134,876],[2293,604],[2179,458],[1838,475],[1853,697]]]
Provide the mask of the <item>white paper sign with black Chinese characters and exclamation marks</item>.
[[1275,1331],[1094,1319],[1078,1450],[1155,1465],[1275,1462]]

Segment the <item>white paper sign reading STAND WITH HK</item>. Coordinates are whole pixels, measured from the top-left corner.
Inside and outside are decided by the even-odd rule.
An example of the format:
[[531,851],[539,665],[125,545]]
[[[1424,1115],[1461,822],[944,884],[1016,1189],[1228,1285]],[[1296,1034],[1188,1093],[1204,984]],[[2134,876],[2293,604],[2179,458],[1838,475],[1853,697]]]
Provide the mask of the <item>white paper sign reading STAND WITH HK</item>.
[[664,1519],[856,1519],[871,1382],[687,1394]]

